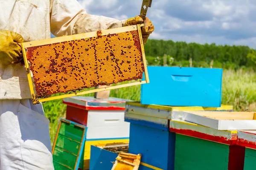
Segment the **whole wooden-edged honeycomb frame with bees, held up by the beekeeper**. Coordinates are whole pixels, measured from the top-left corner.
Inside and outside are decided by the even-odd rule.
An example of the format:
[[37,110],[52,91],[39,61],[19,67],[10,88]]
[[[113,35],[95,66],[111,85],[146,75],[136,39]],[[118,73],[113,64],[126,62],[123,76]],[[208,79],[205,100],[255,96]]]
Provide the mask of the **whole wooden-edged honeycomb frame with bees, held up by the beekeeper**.
[[33,103],[148,83],[141,26],[21,43]]

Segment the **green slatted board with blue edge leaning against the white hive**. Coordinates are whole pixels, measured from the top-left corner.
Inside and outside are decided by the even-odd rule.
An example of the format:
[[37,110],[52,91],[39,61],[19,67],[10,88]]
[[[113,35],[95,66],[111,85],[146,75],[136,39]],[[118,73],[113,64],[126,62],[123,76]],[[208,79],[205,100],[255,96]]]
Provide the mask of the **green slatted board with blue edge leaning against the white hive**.
[[52,147],[55,170],[83,169],[84,142],[87,127],[67,119],[60,119]]

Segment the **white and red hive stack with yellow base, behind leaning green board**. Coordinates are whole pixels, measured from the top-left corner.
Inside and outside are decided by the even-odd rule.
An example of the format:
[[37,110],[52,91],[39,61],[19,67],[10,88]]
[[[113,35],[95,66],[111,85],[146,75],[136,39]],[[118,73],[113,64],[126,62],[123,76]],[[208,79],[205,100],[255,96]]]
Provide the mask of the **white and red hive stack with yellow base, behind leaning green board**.
[[91,145],[129,142],[130,125],[124,121],[126,101],[84,96],[63,99],[67,105],[66,119],[87,127],[81,169],[89,169]]

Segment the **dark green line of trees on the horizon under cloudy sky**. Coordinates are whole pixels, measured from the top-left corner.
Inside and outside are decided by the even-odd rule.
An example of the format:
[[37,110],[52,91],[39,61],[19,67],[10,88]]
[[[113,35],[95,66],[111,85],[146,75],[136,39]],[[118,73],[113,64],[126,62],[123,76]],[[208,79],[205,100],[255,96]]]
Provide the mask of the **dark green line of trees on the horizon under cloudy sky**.
[[215,68],[256,68],[255,50],[244,45],[202,45],[149,39],[145,45],[145,55],[148,65],[163,64],[161,59],[167,55],[169,65],[188,66],[192,61],[194,67],[208,67],[212,62]]

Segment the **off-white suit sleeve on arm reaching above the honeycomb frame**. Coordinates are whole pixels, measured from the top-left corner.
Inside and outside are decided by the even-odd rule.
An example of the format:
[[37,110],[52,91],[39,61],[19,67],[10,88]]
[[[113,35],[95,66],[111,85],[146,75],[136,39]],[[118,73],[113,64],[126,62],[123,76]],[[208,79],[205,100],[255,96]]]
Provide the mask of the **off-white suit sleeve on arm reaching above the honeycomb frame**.
[[87,14],[77,0],[50,0],[51,32],[56,37],[122,27],[125,20]]

